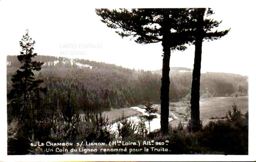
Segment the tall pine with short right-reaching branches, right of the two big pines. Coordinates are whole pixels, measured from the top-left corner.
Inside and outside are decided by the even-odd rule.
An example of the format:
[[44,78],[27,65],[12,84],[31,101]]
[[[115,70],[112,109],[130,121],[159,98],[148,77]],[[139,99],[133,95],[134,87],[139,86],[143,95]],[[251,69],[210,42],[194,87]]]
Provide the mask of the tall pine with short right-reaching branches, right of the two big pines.
[[191,42],[195,44],[195,59],[194,69],[192,75],[192,87],[191,87],[191,125],[192,131],[198,131],[201,127],[200,121],[200,75],[201,75],[201,59],[202,59],[202,42],[203,40],[216,40],[226,34],[229,30],[224,31],[212,31],[218,27],[221,22],[213,19],[204,19],[204,15],[207,17],[213,14],[211,8],[192,8],[189,9],[189,25],[191,27]]

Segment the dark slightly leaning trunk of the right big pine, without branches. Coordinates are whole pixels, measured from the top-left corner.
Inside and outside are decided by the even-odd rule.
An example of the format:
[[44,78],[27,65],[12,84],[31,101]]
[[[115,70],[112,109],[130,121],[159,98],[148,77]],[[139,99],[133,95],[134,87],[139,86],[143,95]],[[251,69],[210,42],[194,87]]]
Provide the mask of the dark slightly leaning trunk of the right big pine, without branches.
[[203,15],[205,8],[200,8],[197,16],[197,26],[195,35],[195,59],[192,75],[191,87],[191,124],[192,131],[198,131],[201,128],[200,122],[200,75],[201,75],[201,58],[202,58],[202,39],[203,39]]

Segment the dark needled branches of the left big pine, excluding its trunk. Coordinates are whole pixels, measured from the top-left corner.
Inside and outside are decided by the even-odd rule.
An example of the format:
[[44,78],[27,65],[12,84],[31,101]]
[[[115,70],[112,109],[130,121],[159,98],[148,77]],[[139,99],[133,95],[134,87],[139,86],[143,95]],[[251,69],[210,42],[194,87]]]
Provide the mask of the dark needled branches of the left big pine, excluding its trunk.
[[164,12],[168,14],[168,41],[172,50],[185,50],[187,31],[184,22],[188,20],[184,8],[134,8],[134,9],[96,9],[101,21],[115,29],[121,37],[131,37],[138,44],[163,41]]

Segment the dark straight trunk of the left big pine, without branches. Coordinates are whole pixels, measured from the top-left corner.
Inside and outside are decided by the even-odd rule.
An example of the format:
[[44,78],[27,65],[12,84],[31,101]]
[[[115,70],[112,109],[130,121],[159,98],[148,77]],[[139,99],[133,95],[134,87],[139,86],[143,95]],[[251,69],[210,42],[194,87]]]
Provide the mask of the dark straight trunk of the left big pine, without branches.
[[169,86],[170,86],[170,55],[171,49],[169,45],[169,25],[168,25],[169,13],[164,13],[163,24],[163,59],[162,59],[162,86],[161,86],[161,132],[163,134],[168,133],[168,118],[169,118]]

